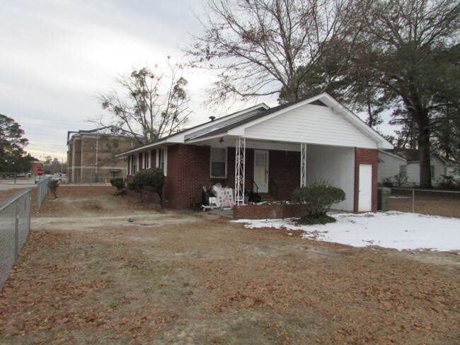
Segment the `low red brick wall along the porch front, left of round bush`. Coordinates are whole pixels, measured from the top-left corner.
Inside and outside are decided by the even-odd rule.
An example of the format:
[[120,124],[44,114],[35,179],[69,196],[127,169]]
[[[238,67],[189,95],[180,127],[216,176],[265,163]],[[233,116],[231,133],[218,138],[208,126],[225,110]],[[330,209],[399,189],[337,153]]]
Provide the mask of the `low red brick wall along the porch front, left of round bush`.
[[306,215],[302,204],[260,204],[234,207],[234,219],[277,219]]

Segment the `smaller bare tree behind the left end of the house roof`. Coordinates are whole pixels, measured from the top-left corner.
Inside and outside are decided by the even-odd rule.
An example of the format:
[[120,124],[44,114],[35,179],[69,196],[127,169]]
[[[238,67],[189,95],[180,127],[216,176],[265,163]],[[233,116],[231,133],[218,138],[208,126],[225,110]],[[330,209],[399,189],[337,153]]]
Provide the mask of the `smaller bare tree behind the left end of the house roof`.
[[191,113],[185,91],[188,82],[183,77],[182,66],[168,66],[168,75],[157,68],[151,71],[144,67],[119,76],[117,87],[99,97],[110,118],[102,115],[91,121],[134,136],[139,144],[157,141],[180,130]]

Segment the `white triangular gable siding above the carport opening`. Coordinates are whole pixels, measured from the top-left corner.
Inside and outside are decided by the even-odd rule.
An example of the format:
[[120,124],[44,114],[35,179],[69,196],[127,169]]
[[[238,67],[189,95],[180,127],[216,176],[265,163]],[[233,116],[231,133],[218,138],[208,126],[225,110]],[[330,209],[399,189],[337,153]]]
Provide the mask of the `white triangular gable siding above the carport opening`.
[[363,134],[330,107],[303,105],[246,128],[246,138],[321,144],[328,146],[376,148]]

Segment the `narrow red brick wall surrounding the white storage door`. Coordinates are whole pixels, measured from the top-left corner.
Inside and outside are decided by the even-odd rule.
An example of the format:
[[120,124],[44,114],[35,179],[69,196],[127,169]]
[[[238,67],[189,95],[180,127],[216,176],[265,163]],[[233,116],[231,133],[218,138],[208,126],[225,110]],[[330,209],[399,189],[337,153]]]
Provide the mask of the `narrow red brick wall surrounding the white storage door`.
[[372,211],[377,211],[377,183],[379,173],[379,153],[373,148],[356,148],[355,151],[355,212],[358,211],[360,185],[360,164],[372,165]]

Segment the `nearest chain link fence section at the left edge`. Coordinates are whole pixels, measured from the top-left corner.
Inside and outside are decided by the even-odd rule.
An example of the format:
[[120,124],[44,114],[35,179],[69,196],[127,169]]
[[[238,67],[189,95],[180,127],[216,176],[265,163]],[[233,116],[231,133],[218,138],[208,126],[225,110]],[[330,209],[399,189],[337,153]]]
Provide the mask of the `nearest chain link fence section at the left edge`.
[[30,189],[0,206],[0,291],[30,230]]

